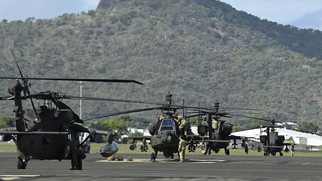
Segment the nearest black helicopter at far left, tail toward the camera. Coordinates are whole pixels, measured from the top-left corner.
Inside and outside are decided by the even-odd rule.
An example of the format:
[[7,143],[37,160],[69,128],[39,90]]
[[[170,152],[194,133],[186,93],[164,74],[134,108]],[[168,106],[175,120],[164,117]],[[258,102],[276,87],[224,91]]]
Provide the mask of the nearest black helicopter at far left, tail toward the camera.
[[[13,53],[12,53],[13,54]],[[14,57],[14,55],[13,55]],[[14,100],[15,124],[14,129],[0,131],[2,140],[13,140],[17,146],[17,168],[25,169],[31,159],[38,160],[71,160],[71,170],[82,170],[82,160],[86,158],[82,146],[90,139],[95,141],[96,135],[106,135],[107,144],[101,148],[104,157],[111,156],[118,150],[118,144],[113,141],[114,132],[88,129],[80,124],[84,123],[74,111],[60,101],[70,98],[64,93],[43,91],[30,93],[29,80],[52,81],[84,81],[84,82],[114,82],[136,83],[134,80],[108,80],[108,79],[63,79],[63,78],[29,78],[23,76],[14,57],[20,77],[0,77],[0,79],[15,79],[16,83],[8,88],[11,95],[0,97],[0,100]],[[21,83],[20,83],[21,81]],[[21,91],[23,95],[21,95]],[[32,109],[23,109],[22,100],[30,99]],[[44,100],[44,105],[35,107],[33,99]],[[52,106],[52,103],[56,106]],[[80,142],[79,134],[89,135]],[[16,135],[16,137],[15,137]]]

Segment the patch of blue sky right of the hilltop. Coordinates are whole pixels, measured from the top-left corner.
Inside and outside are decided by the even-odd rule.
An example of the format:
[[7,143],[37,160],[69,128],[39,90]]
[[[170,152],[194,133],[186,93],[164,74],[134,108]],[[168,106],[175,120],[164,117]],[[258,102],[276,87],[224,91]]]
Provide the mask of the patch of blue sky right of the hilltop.
[[322,0],[220,0],[280,24],[322,30]]

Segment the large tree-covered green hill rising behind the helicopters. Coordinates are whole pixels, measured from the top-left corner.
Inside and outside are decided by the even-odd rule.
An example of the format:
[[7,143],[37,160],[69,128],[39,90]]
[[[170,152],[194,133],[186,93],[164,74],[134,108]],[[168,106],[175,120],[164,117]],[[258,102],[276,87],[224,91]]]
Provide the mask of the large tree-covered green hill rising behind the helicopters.
[[[29,77],[135,79],[85,83],[83,96],[262,108],[283,122],[321,127],[322,32],[237,11],[217,0],[102,0],[96,11],[0,22],[0,65]],[[103,8],[104,7],[104,8]],[[1,83],[7,94],[8,83]],[[32,81],[32,90],[78,95],[79,84]],[[79,112],[78,101],[64,101]],[[41,102],[42,103],[42,102]],[[28,105],[28,104],[25,104]],[[83,118],[149,105],[83,101]],[[150,106],[151,107],[151,106]],[[1,109],[13,102],[0,102]],[[158,113],[158,112],[157,112]],[[3,112],[5,114],[5,112]],[[135,114],[156,119],[153,113]],[[271,118],[271,117],[263,117]],[[234,118],[240,125],[246,119]]]

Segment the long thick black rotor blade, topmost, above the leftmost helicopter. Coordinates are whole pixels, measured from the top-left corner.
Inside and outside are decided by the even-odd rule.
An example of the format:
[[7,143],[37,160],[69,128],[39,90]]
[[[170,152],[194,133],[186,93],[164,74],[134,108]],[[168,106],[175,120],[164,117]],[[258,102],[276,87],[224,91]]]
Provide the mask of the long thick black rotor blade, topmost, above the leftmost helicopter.
[[143,85],[135,80],[118,80],[118,79],[66,79],[66,78],[24,78],[24,77],[0,77],[0,79],[21,79],[21,80],[48,80],[48,81],[82,81],[82,82],[111,82],[111,83],[135,83]]

